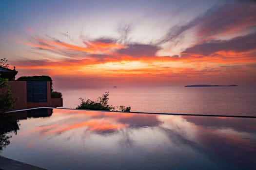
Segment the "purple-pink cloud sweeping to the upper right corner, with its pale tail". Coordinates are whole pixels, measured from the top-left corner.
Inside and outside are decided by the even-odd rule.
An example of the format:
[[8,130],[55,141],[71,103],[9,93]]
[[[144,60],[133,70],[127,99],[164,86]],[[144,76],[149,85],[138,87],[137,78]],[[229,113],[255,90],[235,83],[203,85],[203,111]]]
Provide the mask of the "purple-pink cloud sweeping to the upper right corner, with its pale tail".
[[168,33],[158,42],[177,43],[182,34],[195,29],[196,43],[218,39],[223,35],[237,34],[256,27],[256,4],[249,1],[229,2],[222,6],[214,6],[202,16],[196,17],[185,25],[172,26]]

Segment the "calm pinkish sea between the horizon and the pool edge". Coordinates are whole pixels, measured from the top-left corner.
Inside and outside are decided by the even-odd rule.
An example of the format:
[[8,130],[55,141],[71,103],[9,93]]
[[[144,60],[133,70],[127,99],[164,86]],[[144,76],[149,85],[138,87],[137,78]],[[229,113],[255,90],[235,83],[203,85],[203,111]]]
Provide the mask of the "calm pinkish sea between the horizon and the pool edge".
[[109,104],[131,106],[134,112],[256,116],[256,86],[118,87],[59,90],[63,107],[75,108],[79,98],[96,100],[109,91]]

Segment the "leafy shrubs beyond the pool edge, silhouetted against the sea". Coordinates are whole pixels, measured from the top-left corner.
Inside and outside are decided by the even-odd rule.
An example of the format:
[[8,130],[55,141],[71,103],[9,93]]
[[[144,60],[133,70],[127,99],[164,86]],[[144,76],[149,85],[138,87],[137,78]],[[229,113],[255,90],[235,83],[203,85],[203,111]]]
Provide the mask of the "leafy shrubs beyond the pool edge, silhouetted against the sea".
[[[108,104],[109,100],[109,92],[105,92],[101,97],[98,97],[97,101],[92,101],[88,99],[85,101],[82,98],[79,98],[80,105],[76,107],[76,109],[90,109],[90,110],[109,110],[116,111],[116,108],[112,105]],[[119,106],[119,109],[122,112],[130,112],[131,107]]]

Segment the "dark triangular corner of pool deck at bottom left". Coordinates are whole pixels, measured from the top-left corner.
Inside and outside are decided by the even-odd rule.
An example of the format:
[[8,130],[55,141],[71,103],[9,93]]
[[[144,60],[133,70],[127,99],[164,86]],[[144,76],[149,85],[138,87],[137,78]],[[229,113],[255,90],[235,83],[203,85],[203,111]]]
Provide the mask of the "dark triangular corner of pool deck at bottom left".
[[0,156],[0,170],[46,170]]

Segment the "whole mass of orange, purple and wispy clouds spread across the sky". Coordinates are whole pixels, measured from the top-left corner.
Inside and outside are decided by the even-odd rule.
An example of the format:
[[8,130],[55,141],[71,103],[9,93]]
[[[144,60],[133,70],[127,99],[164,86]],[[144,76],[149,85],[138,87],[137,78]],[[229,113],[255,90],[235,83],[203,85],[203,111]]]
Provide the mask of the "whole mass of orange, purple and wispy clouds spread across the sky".
[[[256,5],[248,2],[229,2],[214,6],[204,15],[187,24],[172,26],[157,43],[131,42],[132,24],[120,24],[119,37],[98,36],[88,38],[80,35],[74,40],[69,33],[62,37],[33,35],[18,42],[31,47],[30,51],[49,55],[41,60],[16,60],[13,65],[23,74],[49,74],[60,86],[69,85],[77,79],[86,80],[78,86],[102,84],[171,84],[186,80],[200,81],[223,79],[251,82],[256,71]],[[193,40],[185,34],[193,33]],[[176,55],[159,55],[159,51],[172,51],[184,41],[192,42],[182,46]],[[170,50],[166,48],[169,43]],[[52,57],[58,56],[58,57]],[[247,74],[246,76],[244,76]],[[76,75],[76,76],[74,76]],[[249,75],[249,76],[248,76]],[[211,76],[211,79],[209,78]],[[75,78],[74,78],[75,77]],[[66,82],[66,83],[63,83]],[[207,82],[207,81],[205,81]],[[233,83],[232,82],[232,83]],[[195,82],[196,83],[196,82]]]

